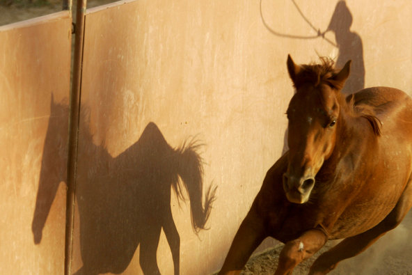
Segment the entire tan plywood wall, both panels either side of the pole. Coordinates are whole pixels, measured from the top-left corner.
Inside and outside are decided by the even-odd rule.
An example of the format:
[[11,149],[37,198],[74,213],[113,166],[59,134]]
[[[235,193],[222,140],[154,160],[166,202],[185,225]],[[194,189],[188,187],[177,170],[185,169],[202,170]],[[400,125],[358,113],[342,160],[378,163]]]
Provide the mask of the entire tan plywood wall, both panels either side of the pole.
[[[287,54],[352,59],[345,93],[411,93],[411,13],[408,0],[88,10],[72,273],[218,270],[286,148]],[[63,274],[70,31],[68,13],[0,28],[0,274]]]

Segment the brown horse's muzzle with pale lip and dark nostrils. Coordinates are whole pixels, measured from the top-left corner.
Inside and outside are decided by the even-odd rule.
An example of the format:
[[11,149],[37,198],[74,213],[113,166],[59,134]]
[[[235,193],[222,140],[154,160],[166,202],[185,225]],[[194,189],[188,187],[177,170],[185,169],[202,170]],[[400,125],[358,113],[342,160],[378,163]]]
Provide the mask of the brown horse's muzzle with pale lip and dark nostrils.
[[287,200],[291,203],[306,203],[314,186],[315,178],[313,177],[299,178],[288,173],[283,174],[283,190]]

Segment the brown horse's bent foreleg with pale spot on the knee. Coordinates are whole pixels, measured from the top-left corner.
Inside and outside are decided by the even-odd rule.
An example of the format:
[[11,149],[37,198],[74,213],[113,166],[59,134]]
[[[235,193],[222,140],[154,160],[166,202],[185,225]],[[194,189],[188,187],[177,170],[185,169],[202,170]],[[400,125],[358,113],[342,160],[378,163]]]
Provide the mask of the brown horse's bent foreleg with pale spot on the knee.
[[324,246],[327,240],[328,237],[323,230],[312,229],[303,233],[298,239],[287,242],[280,252],[275,275],[292,274],[296,265],[310,258]]

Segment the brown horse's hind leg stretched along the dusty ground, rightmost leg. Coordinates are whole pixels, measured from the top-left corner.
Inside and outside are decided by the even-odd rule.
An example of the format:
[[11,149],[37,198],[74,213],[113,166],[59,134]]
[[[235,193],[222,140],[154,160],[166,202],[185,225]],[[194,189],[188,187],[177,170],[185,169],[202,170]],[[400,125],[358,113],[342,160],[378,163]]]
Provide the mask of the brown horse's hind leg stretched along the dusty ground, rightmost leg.
[[309,274],[326,274],[344,259],[354,257],[365,251],[386,232],[397,227],[412,207],[412,184],[409,182],[392,212],[377,226],[366,232],[344,239],[332,249],[323,253],[310,267]]

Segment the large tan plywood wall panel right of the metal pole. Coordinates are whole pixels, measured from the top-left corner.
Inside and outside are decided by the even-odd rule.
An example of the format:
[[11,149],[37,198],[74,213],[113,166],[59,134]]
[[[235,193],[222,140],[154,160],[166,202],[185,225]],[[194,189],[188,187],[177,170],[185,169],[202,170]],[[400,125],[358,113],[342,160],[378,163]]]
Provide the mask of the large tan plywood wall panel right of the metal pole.
[[[89,10],[72,271],[219,269],[285,148],[287,54],[296,63],[352,59],[352,90],[411,93],[411,9],[406,0],[158,0]],[[187,152],[203,159],[202,203],[217,187],[197,235],[187,191],[184,202],[171,187],[179,168],[196,170],[173,150],[191,141],[201,145]]]

